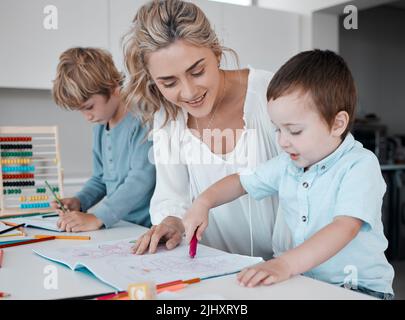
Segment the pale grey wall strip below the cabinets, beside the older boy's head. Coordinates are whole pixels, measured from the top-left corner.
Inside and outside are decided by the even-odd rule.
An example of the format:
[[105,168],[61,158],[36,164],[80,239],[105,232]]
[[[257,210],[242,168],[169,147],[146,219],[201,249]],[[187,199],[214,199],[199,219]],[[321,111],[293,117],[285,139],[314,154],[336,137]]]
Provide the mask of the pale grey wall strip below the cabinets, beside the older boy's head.
[[57,107],[49,90],[0,88],[0,126],[53,125],[59,127],[65,177],[90,176],[91,125],[79,112]]

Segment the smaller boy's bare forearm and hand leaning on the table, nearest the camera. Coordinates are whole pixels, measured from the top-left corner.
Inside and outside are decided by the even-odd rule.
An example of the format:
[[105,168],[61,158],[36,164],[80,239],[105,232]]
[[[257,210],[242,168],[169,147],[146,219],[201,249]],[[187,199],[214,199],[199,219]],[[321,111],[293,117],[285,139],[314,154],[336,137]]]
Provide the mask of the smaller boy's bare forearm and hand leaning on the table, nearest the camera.
[[242,270],[237,278],[241,285],[254,287],[272,284],[311,270],[336,255],[352,241],[363,221],[349,216],[337,216],[332,223],[315,233],[300,246],[280,257]]

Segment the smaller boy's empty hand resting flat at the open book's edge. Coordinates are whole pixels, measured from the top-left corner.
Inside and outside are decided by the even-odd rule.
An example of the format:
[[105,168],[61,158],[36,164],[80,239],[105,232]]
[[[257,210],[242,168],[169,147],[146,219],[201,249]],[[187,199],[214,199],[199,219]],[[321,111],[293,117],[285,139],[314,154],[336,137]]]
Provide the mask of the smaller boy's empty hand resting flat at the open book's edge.
[[293,275],[289,264],[283,258],[275,258],[245,268],[237,275],[241,286],[255,287],[258,284],[270,285],[289,279]]

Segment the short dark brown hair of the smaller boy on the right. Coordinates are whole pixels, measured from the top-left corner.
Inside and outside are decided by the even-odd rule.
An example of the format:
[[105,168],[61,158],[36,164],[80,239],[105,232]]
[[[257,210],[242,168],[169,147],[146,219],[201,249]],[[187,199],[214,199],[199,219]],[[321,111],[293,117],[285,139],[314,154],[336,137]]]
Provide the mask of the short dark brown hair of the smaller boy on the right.
[[301,52],[288,60],[274,75],[267,88],[267,100],[277,99],[294,90],[309,92],[321,117],[329,127],[340,111],[354,120],[357,94],[352,74],[343,58],[330,50]]

